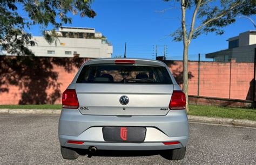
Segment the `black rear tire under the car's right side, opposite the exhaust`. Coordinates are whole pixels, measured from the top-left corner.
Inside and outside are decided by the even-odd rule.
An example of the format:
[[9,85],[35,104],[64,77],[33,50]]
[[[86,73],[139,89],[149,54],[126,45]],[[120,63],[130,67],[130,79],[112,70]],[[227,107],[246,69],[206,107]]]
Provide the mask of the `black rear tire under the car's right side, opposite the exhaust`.
[[181,160],[184,158],[185,154],[186,147],[183,147],[177,149],[163,150],[161,156],[168,160]]

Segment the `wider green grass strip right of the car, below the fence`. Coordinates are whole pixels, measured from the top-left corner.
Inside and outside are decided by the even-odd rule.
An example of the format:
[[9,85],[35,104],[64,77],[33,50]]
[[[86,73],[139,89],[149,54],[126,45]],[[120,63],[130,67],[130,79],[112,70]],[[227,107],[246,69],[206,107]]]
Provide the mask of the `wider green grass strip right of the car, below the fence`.
[[190,115],[256,120],[256,110],[207,105],[190,105]]

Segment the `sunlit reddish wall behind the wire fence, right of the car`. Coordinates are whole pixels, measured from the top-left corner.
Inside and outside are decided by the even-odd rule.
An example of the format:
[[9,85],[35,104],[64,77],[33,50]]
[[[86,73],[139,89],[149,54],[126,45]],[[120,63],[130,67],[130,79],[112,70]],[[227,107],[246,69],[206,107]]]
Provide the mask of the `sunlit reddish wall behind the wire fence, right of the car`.
[[[182,86],[182,61],[165,61]],[[199,96],[251,100],[254,63],[200,62]],[[198,62],[188,62],[188,95],[198,95]]]

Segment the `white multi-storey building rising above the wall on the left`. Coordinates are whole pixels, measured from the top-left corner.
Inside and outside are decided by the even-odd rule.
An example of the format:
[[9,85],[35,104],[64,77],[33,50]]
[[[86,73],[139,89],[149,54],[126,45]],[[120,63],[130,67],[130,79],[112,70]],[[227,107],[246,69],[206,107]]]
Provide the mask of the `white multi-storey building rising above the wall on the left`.
[[59,37],[49,44],[43,36],[33,37],[36,46],[29,46],[36,56],[111,58],[113,47],[95,28],[60,27]]

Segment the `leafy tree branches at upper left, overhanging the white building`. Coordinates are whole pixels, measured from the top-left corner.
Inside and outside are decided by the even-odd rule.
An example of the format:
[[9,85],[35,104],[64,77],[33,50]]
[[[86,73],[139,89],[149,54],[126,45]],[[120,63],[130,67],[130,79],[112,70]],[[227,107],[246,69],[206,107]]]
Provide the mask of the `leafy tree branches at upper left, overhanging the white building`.
[[[71,24],[69,13],[80,17],[93,18],[96,12],[91,9],[93,0],[3,0],[0,1],[0,45],[4,51],[16,55],[33,55],[28,45],[34,46],[28,31],[32,25],[41,25],[45,30],[49,25],[52,33],[45,33],[45,39],[56,44],[55,28]],[[23,12],[24,13],[23,13]],[[21,14],[22,13],[22,14]],[[51,35],[52,34],[52,35]]]

